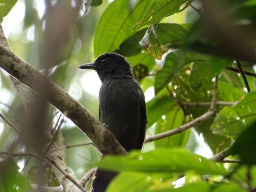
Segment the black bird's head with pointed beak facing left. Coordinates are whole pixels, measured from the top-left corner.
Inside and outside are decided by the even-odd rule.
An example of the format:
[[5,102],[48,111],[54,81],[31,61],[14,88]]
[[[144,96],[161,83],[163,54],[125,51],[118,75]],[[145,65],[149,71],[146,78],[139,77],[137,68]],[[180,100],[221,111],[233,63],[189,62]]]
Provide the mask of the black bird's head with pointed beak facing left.
[[82,64],[79,68],[96,70],[102,82],[116,77],[134,77],[125,57],[114,52],[99,55],[93,63]]

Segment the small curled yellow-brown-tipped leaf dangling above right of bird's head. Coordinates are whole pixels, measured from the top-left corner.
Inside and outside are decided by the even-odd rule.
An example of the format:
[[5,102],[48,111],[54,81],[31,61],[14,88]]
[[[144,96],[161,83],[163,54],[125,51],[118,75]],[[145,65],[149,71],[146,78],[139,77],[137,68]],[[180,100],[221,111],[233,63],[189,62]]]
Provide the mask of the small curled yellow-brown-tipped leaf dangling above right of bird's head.
[[161,60],[163,50],[159,39],[157,38],[157,32],[154,25],[150,25],[146,31],[144,37],[139,42],[140,46],[144,49],[148,55],[154,59]]

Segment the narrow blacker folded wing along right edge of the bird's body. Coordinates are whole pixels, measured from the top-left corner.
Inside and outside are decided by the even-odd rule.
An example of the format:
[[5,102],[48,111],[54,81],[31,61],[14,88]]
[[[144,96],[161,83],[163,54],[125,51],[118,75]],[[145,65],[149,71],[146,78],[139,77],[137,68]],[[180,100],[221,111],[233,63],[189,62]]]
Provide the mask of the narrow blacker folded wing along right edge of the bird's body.
[[146,114],[146,104],[143,98],[142,105],[140,108],[140,148],[143,147],[147,127],[147,114]]

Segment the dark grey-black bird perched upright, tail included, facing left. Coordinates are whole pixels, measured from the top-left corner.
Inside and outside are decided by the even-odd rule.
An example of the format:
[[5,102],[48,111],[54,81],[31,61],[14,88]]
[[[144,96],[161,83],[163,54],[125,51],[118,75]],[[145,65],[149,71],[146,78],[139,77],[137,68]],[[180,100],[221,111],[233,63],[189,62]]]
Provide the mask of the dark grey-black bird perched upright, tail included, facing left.
[[[126,151],[141,149],[147,124],[145,98],[125,57],[109,52],[79,68],[96,70],[102,81],[99,90],[99,120]],[[97,170],[91,191],[104,192],[116,174]]]

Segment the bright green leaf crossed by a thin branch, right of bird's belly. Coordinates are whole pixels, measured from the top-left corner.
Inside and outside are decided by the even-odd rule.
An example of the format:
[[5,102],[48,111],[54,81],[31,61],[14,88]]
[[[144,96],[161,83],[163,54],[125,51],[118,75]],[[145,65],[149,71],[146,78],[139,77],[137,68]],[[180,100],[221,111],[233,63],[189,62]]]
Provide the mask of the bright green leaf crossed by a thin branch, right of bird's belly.
[[[165,114],[164,118],[157,121],[155,128],[155,134],[160,134],[165,131],[172,130],[182,125],[183,123],[183,111],[180,108],[173,108],[172,111]],[[172,135],[170,137],[165,137],[154,142],[156,148],[160,147],[180,147],[185,146],[190,135],[190,129],[183,131],[180,134]]]

